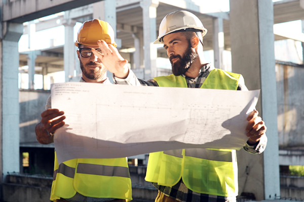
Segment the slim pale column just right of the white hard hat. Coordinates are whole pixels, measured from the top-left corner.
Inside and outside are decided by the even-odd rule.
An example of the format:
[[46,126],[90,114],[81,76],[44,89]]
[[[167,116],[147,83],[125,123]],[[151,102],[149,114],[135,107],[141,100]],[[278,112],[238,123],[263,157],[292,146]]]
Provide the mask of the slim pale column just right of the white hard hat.
[[222,18],[213,19],[214,67],[223,70],[224,27]]

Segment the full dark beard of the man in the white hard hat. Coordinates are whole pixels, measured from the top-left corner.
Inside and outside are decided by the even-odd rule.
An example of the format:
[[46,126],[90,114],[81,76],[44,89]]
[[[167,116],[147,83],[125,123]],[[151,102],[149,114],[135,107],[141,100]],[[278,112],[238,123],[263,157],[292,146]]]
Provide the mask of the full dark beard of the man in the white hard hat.
[[[181,57],[180,55],[173,55],[169,58],[172,65],[172,73],[175,76],[182,75],[188,71],[191,64],[197,59],[198,54],[195,53],[192,49],[192,46],[189,44],[185,53]],[[172,59],[179,58],[175,63],[172,63]]]

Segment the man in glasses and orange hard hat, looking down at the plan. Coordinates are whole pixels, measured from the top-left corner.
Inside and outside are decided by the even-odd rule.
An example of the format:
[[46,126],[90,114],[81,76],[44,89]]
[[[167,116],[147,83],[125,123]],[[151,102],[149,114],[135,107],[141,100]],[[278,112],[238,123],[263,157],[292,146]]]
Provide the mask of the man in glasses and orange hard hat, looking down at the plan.
[[[111,84],[106,77],[107,69],[91,49],[100,52],[97,40],[116,47],[114,39],[114,31],[107,22],[94,19],[83,23],[75,42],[79,47],[77,55],[82,70],[80,82]],[[51,108],[50,96],[46,111],[41,114],[42,120],[35,127],[40,143],[49,144],[54,141],[56,130],[65,124],[63,115],[64,112]],[[50,198],[53,201],[124,202],[132,199],[126,158],[73,159],[58,165],[55,151],[53,176]]]

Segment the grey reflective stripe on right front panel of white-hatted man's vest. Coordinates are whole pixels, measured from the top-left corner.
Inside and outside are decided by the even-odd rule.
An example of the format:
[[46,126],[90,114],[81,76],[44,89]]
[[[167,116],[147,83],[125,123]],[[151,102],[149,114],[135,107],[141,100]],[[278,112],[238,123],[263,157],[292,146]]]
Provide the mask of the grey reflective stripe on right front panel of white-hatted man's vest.
[[185,149],[185,156],[195,157],[200,159],[212,160],[212,161],[224,161],[224,162],[236,162],[234,157],[236,152],[233,151],[219,151],[210,150],[205,148],[187,148]]

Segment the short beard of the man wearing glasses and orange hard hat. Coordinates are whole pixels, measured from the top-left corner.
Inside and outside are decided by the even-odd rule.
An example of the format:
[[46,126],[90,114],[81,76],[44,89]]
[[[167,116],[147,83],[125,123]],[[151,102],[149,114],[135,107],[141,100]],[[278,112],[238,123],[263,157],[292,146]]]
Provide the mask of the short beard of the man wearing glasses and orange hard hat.
[[[86,66],[96,66],[96,67],[99,67],[99,69],[87,69]],[[86,65],[84,65],[82,63],[82,61],[80,61],[80,69],[82,71],[82,73],[88,78],[88,79],[91,79],[91,80],[97,80],[97,79],[100,79],[104,76],[104,74],[106,73],[107,69],[106,67],[100,63],[94,63],[94,62],[89,62],[87,63]]]

